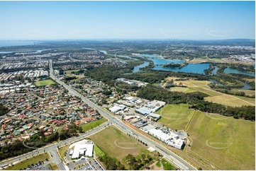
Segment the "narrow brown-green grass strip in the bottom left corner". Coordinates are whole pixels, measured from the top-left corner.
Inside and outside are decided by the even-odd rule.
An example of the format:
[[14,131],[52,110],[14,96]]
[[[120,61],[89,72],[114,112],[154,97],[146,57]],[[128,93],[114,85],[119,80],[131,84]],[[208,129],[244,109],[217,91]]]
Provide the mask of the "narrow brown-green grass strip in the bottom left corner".
[[40,155],[35,155],[32,158],[27,158],[26,160],[22,160],[21,162],[15,164],[14,166],[8,167],[5,170],[23,170],[23,168],[27,168],[28,166],[38,163],[39,161],[45,161],[45,159],[50,159],[49,153],[42,153]]

